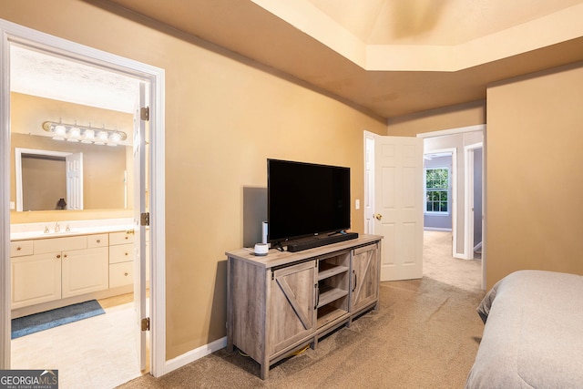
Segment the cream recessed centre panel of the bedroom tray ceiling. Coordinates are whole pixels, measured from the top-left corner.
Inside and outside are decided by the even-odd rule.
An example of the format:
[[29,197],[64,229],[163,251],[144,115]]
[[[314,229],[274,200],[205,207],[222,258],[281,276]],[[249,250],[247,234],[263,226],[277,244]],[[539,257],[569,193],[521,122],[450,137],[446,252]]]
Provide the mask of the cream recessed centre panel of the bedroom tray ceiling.
[[368,45],[458,45],[580,0],[307,0]]

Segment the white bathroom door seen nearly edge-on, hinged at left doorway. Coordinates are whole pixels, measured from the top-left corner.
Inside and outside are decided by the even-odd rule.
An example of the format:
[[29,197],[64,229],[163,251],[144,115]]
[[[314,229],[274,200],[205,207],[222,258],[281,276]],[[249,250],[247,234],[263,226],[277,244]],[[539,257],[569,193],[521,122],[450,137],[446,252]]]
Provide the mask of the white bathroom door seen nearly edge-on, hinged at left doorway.
[[134,115],[134,307],[136,312],[136,345],[139,369],[146,369],[146,331],[142,320],[146,312],[146,226],[142,215],[146,213],[146,121],[141,119],[140,109],[146,107],[146,85],[139,83],[139,107]]

